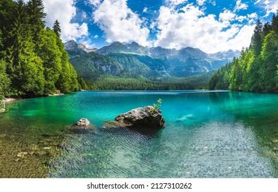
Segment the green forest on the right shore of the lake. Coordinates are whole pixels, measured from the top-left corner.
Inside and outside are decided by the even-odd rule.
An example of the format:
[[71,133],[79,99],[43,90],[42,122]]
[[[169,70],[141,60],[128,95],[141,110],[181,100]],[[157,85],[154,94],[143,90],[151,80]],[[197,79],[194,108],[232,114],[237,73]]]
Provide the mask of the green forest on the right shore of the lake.
[[264,25],[257,21],[251,45],[240,58],[221,67],[208,83],[210,90],[278,92],[278,13]]

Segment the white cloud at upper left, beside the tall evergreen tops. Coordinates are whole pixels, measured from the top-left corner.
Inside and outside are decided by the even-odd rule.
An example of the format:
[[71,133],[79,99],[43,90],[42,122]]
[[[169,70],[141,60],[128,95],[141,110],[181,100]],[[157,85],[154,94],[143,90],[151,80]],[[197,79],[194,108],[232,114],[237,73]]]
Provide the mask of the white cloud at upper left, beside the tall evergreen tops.
[[43,3],[47,13],[45,18],[47,26],[52,27],[55,20],[58,19],[62,29],[62,40],[76,40],[76,38],[88,35],[87,23],[71,23],[71,20],[76,15],[73,0],[44,0]]

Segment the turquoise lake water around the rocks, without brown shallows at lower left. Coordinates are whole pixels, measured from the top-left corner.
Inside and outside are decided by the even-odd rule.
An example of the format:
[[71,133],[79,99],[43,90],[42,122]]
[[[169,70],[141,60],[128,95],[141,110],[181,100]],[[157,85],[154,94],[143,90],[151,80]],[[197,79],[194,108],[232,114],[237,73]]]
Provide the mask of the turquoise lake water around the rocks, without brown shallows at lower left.
[[[81,117],[104,121],[162,99],[158,132],[101,129],[64,139],[55,178],[277,178],[278,95],[207,91],[92,91],[16,101],[13,131],[55,134]],[[17,130],[18,129],[18,130]],[[277,146],[278,147],[278,146]]]

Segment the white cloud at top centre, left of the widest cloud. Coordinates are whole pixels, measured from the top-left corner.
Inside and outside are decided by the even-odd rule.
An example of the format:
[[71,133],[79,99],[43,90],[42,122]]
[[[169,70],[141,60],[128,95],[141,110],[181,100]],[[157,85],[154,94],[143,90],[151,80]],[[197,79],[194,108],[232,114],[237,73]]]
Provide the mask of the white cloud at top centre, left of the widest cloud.
[[94,11],[93,19],[103,30],[108,43],[136,41],[149,45],[149,29],[143,26],[138,14],[127,7],[127,0],[104,0]]

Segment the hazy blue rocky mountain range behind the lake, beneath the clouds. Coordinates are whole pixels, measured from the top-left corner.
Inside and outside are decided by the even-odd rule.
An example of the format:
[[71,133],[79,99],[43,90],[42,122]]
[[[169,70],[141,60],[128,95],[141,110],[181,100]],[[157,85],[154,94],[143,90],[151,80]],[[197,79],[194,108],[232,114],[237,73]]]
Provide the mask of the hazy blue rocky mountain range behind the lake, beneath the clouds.
[[143,47],[138,43],[114,42],[101,49],[87,49],[74,40],[64,43],[70,62],[84,80],[99,75],[144,77],[187,77],[214,71],[238,57],[240,51],[205,53],[197,48],[165,49]]

